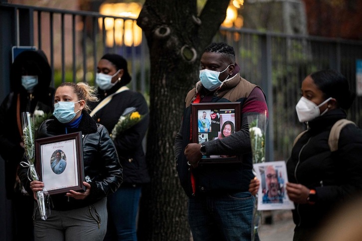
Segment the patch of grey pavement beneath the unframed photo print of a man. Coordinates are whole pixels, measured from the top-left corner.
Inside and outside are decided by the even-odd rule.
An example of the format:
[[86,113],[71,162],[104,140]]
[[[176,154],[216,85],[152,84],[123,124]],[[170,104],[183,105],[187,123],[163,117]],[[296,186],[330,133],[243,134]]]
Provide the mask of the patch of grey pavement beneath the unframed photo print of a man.
[[260,241],[293,241],[292,211],[262,211],[262,220],[258,229]]

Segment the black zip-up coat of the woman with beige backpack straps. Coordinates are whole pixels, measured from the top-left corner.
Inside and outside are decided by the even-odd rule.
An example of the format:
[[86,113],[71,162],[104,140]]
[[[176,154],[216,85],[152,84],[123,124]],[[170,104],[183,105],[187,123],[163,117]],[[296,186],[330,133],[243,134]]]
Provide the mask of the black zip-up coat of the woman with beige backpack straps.
[[362,193],[362,130],[353,124],[341,131],[338,150],[331,152],[328,137],[336,121],[346,118],[341,109],[328,111],[309,124],[287,162],[288,179],[315,189],[315,205],[295,204],[294,223],[317,229],[338,205]]

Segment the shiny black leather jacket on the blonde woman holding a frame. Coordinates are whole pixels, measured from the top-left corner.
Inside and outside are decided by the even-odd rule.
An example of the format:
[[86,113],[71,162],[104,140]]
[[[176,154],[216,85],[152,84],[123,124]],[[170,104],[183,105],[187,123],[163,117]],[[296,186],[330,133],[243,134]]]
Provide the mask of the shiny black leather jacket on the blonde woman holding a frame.
[[[84,200],[66,197],[64,194],[51,195],[54,210],[71,210],[89,206],[115,192],[123,180],[122,166],[108,131],[104,126],[96,124],[86,111],[82,111],[79,127],[67,129],[67,133],[81,132],[83,142],[84,176],[92,181],[90,195]],[[65,134],[65,125],[58,120],[47,120],[39,129],[38,138]],[[27,179],[27,168],[19,168],[19,178],[29,194],[30,181]]]

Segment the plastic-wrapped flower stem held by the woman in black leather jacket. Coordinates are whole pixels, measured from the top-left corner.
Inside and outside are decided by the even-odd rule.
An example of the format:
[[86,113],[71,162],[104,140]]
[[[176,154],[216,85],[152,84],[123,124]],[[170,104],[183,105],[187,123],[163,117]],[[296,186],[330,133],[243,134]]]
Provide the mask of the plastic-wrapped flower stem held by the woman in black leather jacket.
[[[26,162],[21,162],[20,165],[23,167],[28,167],[28,179],[30,181],[39,180],[34,167],[35,159],[35,146],[34,146],[34,116],[29,112],[21,113],[21,122],[22,122],[22,138],[24,143],[24,155],[27,160]],[[46,220],[47,216],[50,214],[50,209],[47,208],[49,204],[49,194],[43,189],[43,191],[36,192],[37,204],[40,212],[40,217],[42,220]]]

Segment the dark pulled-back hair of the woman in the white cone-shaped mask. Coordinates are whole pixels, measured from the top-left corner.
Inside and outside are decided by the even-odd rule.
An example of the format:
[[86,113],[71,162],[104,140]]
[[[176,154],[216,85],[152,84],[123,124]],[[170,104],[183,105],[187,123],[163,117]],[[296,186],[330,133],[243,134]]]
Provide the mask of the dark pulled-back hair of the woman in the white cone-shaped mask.
[[332,97],[342,109],[349,109],[355,100],[356,94],[350,90],[345,76],[333,69],[320,70],[312,73],[311,78],[323,92],[325,99]]

